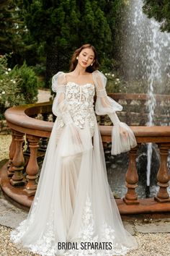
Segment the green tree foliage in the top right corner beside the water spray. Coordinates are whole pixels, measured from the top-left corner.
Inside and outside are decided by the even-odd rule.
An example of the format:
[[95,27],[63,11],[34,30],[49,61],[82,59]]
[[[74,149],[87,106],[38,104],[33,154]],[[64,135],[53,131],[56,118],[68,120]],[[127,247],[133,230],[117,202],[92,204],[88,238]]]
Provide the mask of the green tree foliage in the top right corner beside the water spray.
[[144,0],[143,12],[161,23],[161,31],[170,32],[170,1]]

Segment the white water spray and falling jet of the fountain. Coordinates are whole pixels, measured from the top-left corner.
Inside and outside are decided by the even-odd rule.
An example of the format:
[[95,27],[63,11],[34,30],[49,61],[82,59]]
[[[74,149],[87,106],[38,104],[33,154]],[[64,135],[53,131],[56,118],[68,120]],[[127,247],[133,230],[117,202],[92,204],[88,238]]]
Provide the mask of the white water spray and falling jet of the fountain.
[[[148,95],[146,125],[169,125],[170,118],[169,121],[156,121],[154,110],[158,104],[155,94],[170,94],[170,35],[161,33],[158,22],[143,14],[143,0],[126,2],[125,19],[122,22],[122,74],[129,90],[135,89],[137,93]],[[131,85],[135,85],[135,88]],[[169,115],[169,109],[165,114]],[[151,158],[155,148],[151,142],[147,145],[146,197],[150,193]]]

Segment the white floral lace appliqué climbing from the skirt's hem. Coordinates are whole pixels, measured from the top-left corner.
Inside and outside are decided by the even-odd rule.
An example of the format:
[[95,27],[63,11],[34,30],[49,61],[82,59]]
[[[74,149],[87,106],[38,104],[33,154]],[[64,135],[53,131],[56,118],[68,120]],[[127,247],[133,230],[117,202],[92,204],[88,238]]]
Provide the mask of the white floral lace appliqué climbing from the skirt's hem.
[[[22,248],[22,237],[27,233],[27,229],[35,221],[34,209],[37,205],[36,198],[33,203],[32,214],[29,219],[22,221],[17,229],[11,232],[10,239],[12,242],[17,243],[19,248]],[[89,196],[86,197],[86,204],[84,205],[82,216],[81,216],[81,228],[73,239],[74,243],[78,244],[78,249],[68,249],[64,252],[64,249],[58,253],[58,238],[55,236],[55,225],[53,208],[50,210],[50,216],[48,222],[46,223],[46,228],[42,234],[40,234],[40,239],[35,241],[35,243],[27,244],[24,246],[26,249],[30,249],[32,252],[38,253],[42,256],[113,256],[113,255],[125,255],[129,248],[122,246],[115,242],[115,231],[106,223],[101,223],[98,234],[95,234],[95,220],[92,212],[92,205]],[[72,242],[72,241],[71,241]],[[88,243],[91,244],[88,248],[81,246],[81,244]],[[111,249],[99,249],[95,248],[95,244],[104,244],[110,242],[112,244]],[[20,243],[20,244],[19,244]]]

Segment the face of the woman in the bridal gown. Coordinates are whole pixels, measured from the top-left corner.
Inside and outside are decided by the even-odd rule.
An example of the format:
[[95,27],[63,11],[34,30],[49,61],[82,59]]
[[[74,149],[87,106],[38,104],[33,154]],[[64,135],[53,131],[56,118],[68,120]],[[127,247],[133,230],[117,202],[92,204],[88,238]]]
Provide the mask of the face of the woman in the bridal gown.
[[91,48],[84,48],[78,57],[79,64],[86,69],[94,62],[94,51]]

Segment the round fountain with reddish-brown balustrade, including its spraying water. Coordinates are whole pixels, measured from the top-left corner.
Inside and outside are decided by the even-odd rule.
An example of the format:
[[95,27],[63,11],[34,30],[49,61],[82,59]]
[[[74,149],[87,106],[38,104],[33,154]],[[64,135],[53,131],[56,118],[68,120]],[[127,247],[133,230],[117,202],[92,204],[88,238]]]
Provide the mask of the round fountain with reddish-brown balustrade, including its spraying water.
[[[108,178],[112,191],[118,194],[116,202],[120,213],[164,213],[170,211],[170,176],[166,164],[170,162],[170,126],[167,118],[170,87],[167,72],[169,62],[166,54],[166,51],[169,51],[169,35],[160,33],[156,22],[145,17],[141,9],[142,1],[126,2],[129,4],[123,21],[125,27],[122,37],[124,43],[121,48],[121,71],[128,91],[110,93],[109,96],[124,107],[119,114],[120,119],[130,124],[138,147],[130,150],[128,154],[118,155],[115,163],[115,156],[110,156],[108,146],[112,141],[112,126],[105,124],[102,116],[97,116],[97,119],[105,155],[111,158],[112,169],[108,166]],[[159,38],[158,41],[156,38]],[[164,93],[163,85],[166,85],[166,94],[169,95],[157,95]],[[153,97],[155,93],[156,96]],[[39,159],[45,154],[53,127],[54,116],[51,108],[51,102],[38,103],[15,106],[7,109],[5,113],[7,124],[12,130],[12,142],[9,148],[9,161],[3,163],[0,168],[0,184],[6,197],[26,210],[32,205],[38,182]],[[41,116],[41,119],[37,118],[38,116]],[[26,151],[23,148],[24,141],[27,145]],[[151,180],[150,187],[154,185],[155,188],[157,179],[158,186],[156,189],[151,188],[150,198],[143,198],[146,197],[146,192],[143,193],[140,184],[143,182],[143,166],[146,164],[144,165],[141,159],[144,163],[147,162],[147,143],[155,143],[152,152],[150,151],[151,177],[148,181]],[[156,155],[159,161],[153,160]],[[125,165],[120,168],[122,161],[125,161]],[[106,158],[107,162],[109,161]],[[147,177],[145,183],[146,180]]]

